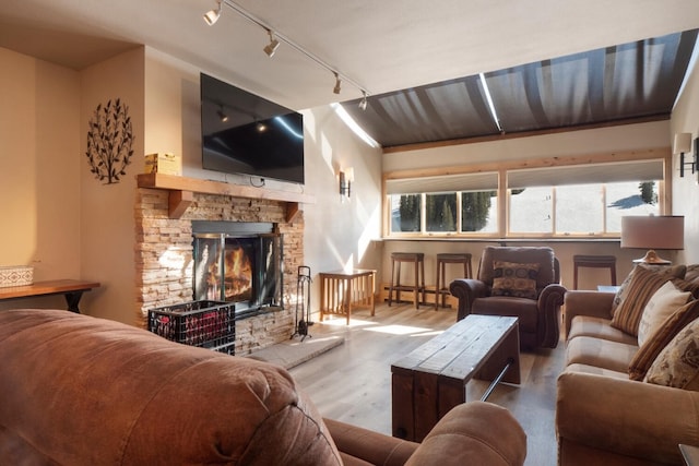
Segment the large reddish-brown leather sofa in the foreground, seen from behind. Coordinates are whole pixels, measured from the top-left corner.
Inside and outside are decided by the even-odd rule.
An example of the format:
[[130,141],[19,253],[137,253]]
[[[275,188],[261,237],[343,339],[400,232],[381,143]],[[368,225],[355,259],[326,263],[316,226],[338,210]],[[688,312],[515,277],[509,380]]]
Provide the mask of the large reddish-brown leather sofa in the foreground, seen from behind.
[[[521,465],[526,438],[473,402],[422,444],[322,419],[282,368],[59,310],[0,312],[3,465]],[[389,368],[387,368],[389,370]]]

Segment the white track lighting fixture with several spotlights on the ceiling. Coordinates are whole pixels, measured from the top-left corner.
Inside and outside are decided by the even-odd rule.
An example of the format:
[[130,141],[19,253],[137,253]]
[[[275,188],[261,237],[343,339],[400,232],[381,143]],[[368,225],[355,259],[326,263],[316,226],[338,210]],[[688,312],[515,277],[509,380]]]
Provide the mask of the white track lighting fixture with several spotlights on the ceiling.
[[359,89],[362,92],[362,95],[364,96],[362,103],[359,104],[359,108],[362,108],[362,109],[366,108],[366,105],[367,105],[366,104],[366,97],[369,95],[369,93],[364,87],[362,87],[359,84],[357,84],[356,82],[352,81],[347,76],[341,75],[340,72],[337,70],[335,70],[333,67],[328,64],[322,59],[318,58],[316,55],[313,55],[310,51],[306,50],[304,47],[299,46],[294,40],[289,39],[288,37],[284,36],[283,34],[280,34],[279,32],[273,32],[272,31],[272,26],[270,24],[268,24],[265,21],[259,19],[258,16],[253,15],[252,13],[250,13],[249,11],[247,11],[246,9],[240,7],[238,3],[236,3],[234,0],[216,0],[216,8],[214,10],[209,11],[206,14],[204,14],[204,21],[206,21],[206,24],[209,24],[211,26],[214,23],[216,23],[216,21],[218,21],[218,17],[221,16],[221,9],[223,8],[224,4],[226,7],[228,7],[229,9],[232,9],[233,11],[235,11],[236,13],[238,13],[240,16],[245,17],[246,20],[248,20],[249,22],[251,22],[253,24],[257,24],[258,26],[260,26],[264,31],[266,31],[266,33],[270,36],[270,44],[268,44],[263,48],[263,50],[269,57],[272,57],[274,55],[274,52],[276,51],[276,49],[279,48],[281,43],[286,44],[291,48],[295,49],[297,52],[306,56],[307,58],[309,58],[312,61],[315,61],[316,63],[318,63],[320,67],[324,68],[325,70],[328,70],[328,71],[330,71],[331,73],[334,74],[334,76],[335,76],[335,86],[332,89],[333,93],[340,94],[341,79],[346,81],[346,82],[348,82],[350,84],[352,84],[357,89]]

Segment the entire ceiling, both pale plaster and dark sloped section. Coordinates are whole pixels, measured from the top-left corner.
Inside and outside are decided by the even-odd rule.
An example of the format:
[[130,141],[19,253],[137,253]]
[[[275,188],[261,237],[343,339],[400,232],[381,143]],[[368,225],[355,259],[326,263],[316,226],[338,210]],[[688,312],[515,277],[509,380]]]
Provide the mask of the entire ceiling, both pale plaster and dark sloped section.
[[0,47],[80,70],[146,45],[293,109],[347,103],[392,146],[667,113],[696,39],[675,33],[699,28],[696,0],[236,4],[346,76],[341,94],[284,44],[268,58],[266,31],[232,8],[208,26],[215,0],[3,0]]

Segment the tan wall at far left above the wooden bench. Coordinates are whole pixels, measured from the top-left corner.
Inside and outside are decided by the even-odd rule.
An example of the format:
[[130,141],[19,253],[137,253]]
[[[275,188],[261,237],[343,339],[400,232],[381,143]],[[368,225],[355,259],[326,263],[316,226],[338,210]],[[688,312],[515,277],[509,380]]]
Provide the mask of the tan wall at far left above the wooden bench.
[[[80,278],[80,75],[0,48],[0,265]],[[64,307],[61,297],[0,302]]]

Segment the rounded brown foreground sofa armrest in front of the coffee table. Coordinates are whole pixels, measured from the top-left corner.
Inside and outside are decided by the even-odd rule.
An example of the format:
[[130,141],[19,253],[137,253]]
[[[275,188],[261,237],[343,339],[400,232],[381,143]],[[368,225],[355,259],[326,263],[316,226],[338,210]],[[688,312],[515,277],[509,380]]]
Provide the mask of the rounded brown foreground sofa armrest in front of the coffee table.
[[526,434],[501,406],[470,402],[452,408],[405,466],[523,465]]

